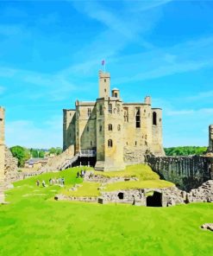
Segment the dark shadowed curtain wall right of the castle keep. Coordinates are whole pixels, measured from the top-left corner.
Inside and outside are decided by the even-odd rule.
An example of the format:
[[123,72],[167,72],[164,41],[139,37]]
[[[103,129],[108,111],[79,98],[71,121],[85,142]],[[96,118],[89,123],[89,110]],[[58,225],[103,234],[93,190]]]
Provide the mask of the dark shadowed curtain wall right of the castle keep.
[[212,178],[213,157],[147,157],[147,163],[166,181],[189,191]]

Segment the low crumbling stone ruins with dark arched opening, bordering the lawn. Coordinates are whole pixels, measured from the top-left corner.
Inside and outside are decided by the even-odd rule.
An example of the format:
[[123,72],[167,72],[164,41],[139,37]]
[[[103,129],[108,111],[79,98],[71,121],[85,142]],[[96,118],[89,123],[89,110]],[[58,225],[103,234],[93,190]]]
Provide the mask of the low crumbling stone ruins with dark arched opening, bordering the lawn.
[[[102,185],[104,187],[104,184]],[[154,195],[158,196],[154,198]],[[213,181],[204,182],[198,189],[191,189],[189,193],[173,186],[165,189],[119,189],[112,192],[101,191],[101,196],[97,197],[56,195],[55,200],[99,202],[102,204],[114,202],[151,207],[170,207],[190,202],[213,202]]]

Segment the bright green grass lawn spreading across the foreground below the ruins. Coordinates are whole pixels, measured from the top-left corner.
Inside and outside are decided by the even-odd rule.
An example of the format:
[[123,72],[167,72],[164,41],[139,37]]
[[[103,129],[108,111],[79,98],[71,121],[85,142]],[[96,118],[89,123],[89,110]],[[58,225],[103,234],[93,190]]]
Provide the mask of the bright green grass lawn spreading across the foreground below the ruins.
[[[78,169],[44,174],[82,182]],[[55,202],[57,185],[36,187],[38,177],[16,182],[0,205],[0,255],[212,255],[213,234],[200,226],[213,221],[213,203],[171,208]]]

